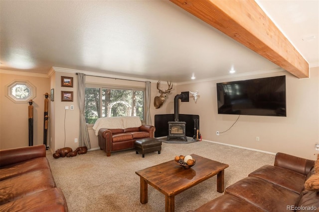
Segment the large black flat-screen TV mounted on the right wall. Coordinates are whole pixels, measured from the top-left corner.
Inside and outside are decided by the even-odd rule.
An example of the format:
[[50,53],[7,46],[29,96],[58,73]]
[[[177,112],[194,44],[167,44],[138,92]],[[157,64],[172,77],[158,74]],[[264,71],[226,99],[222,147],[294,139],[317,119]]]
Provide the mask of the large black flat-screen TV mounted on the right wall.
[[217,83],[218,114],[287,116],[286,76]]

